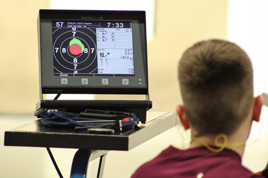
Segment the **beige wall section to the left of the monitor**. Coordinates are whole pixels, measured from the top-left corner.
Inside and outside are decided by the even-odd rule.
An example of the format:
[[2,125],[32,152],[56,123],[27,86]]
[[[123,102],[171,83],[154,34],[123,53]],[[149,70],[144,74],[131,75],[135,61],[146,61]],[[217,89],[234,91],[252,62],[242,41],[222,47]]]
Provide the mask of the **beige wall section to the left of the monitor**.
[[37,16],[49,0],[0,5],[0,113],[33,113],[39,100]]

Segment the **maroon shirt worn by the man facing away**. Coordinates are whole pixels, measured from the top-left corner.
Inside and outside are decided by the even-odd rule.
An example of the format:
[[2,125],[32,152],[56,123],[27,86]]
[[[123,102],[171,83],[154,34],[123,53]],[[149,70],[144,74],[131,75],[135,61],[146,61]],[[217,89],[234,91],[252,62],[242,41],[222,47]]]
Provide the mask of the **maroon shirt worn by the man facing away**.
[[248,178],[262,177],[241,165],[240,156],[229,149],[211,152],[205,147],[180,150],[170,146],[139,167],[131,178]]

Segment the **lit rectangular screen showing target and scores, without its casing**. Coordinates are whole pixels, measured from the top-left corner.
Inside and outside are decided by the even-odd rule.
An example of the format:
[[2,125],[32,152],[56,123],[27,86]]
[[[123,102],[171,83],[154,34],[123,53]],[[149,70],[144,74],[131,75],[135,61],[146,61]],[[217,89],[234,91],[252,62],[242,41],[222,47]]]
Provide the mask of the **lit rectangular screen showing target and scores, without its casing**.
[[52,21],[54,76],[135,76],[132,22]]

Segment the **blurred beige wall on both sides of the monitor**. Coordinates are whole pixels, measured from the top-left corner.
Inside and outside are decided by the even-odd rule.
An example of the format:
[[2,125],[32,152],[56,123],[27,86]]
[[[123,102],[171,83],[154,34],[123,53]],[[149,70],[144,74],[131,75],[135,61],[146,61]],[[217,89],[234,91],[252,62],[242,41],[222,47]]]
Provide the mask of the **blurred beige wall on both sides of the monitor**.
[[[1,2],[0,113],[33,113],[39,101],[36,19],[47,8],[49,0]],[[226,22],[227,0],[157,1],[155,36],[147,44],[152,110],[175,111],[178,59],[194,42],[226,38]]]

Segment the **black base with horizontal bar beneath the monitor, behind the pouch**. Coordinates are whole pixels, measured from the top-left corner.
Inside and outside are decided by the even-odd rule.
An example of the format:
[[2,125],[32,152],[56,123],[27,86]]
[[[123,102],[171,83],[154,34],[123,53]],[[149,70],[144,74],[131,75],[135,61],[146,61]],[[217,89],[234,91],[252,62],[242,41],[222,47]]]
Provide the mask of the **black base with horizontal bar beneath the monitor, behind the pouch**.
[[42,110],[64,111],[70,113],[84,112],[86,109],[118,111],[134,113],[144,124],[146,122],[146,112],[152,108],[152,101],[146,95],[147,100],[57,100],[60,94],[54,100],[40,100],[36,104],[34,115],[40,118],[39,113]]

